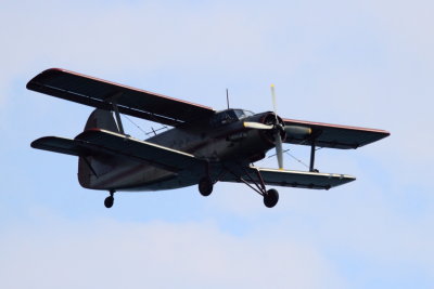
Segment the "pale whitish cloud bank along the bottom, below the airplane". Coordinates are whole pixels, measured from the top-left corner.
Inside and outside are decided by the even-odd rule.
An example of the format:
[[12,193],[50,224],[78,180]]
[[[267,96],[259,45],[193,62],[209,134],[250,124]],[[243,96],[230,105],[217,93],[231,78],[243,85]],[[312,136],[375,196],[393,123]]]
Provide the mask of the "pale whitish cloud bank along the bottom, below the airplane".
[[[209,223],[21,228],[0,240],[4,288],[343,288],[315,248]],[[27,232],[23,235],[24,232]],[[53,234],[54,233],[54,234]],[[67,263],[65,262],[67,260]],[[103,261],[103,262],[102,262]]]

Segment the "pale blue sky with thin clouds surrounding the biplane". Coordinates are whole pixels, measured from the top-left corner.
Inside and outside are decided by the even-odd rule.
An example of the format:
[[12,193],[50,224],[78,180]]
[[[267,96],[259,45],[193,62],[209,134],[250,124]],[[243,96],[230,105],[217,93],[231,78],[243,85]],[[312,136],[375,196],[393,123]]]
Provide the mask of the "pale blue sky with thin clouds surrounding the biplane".
[[[432,1],[0,1],[1,288],[433,288]],[[74,137],[92,108],[25,89],[62,67],[186,101],[384,129],[317,168],[357,181],[118,194],[77,159],[31,149]],[[141,120],[142,129],[159,124]],[[124,119],[127,131],[143,133]],[[308,148],[288,146],[307,162]],[[260,163],[276,168],[273,158]],[[285,168],[305,169],[289,156]]]

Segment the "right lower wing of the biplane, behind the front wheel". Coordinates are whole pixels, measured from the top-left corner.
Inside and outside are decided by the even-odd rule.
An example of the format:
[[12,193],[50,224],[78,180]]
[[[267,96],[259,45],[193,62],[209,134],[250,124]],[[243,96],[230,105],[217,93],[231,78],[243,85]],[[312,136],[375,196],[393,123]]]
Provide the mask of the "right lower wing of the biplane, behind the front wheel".
[[[356,178],[346,174],[263,169],[256,167],[247,168],[243,180],[247,183],[253,183],[253,181],[259,183],[257,172],[260,172],[260,176],[266,185],[301,188],[329,189],[356,180]],[[225,175],[220,181],[240,182],[240,180],[230,174]]]

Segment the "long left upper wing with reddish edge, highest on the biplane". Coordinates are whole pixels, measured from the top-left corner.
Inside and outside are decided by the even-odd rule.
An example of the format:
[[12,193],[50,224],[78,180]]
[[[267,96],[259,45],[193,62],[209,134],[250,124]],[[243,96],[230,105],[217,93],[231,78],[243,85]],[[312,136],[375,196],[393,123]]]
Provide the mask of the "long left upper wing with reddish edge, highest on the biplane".
[[122,114],[174,127],[215,113],[210,107],[59,68],[37,75],[27,89],[107,110],[114,100]]

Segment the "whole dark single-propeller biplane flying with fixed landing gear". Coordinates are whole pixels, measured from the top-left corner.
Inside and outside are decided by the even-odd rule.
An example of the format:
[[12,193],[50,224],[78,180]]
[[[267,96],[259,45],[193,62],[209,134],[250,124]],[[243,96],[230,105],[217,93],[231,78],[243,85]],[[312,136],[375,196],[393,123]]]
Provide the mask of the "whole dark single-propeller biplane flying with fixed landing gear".
[[[79,184],[107,191],[106,208],[113,206],[117,192],[197,185],[203,196],[209,196],[217,182],[244,183],[272,208],[279,193],[267,185],[329,189],[356,180],[319,172],[317,148],[355,149],[390,135],[384,130],[282,118],[276,113],[273,87],[275,110],[259,114],[235,108],[217,111],[61,68],[40,73],[26,87],[95,108],[84,132],[74,139],[44,136],[31,147],[78,157]],[[120,114],[171,128],[142,141],[125,133]],[[308,171],[283,169],[283,143],[310,146]],[[272,148],[278,169],[254,166]]]

